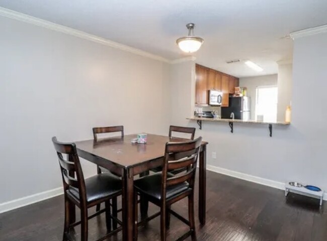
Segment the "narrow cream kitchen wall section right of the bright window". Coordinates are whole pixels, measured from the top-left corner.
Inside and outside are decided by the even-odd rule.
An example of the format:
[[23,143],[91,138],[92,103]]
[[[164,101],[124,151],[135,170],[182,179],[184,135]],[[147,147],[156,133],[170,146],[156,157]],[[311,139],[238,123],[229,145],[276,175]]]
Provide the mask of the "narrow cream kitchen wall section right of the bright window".
[[287,105],[291,104],[293,86],[293,65],[278,64],[278,104],[277,121],[285,121]]

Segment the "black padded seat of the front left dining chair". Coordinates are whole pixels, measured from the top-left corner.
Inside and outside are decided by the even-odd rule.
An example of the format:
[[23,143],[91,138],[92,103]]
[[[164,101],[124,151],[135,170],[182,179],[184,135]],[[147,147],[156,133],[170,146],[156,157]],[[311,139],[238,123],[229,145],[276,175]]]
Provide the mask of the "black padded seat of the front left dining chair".
[[[122,188],[121,179],[110,173],[101,173],[85,179],[87,201],[93,202],[111,195],[119,194]],[[68,192],[79,199],[77,188],[70,186]]]

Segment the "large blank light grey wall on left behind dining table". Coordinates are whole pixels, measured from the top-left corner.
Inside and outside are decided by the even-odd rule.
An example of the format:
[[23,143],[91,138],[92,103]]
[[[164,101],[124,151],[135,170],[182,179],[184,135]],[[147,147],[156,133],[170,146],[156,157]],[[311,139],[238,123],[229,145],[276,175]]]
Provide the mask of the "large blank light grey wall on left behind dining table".
[[167,134],[168,64],[5,17],[0,29],[0,204],[62,186],[52,136]]

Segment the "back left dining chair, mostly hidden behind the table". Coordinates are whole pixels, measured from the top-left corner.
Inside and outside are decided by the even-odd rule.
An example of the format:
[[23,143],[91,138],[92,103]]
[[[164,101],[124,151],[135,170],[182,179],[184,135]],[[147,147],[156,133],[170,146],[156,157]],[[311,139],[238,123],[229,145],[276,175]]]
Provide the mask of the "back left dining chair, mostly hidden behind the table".
[[[115,127],[94,127],[93,129],[93,138],[94,141],[97,142],[98,141],[98,136],[99,134],[106,134],[106,133],[115,133],[115,132],[120,132],[121,133],[121,137],[124,137],[124,126],[115,126]],[[109,170],[100,167],[97,165],[97,172],[98,174],[103,173],[103,172],[107,172],[107,173],[111,173]],[[112,174],[114,175],[114,174]],[[112,199],[112,208],[113,208],[113,215],[117,214],[117,198],[113,198]],[[97,205],[96,210],[99,211],[101,208],[101,204],[99,203]],[[113,227],[117,228],[117,223],[115,221],[113,221]]]

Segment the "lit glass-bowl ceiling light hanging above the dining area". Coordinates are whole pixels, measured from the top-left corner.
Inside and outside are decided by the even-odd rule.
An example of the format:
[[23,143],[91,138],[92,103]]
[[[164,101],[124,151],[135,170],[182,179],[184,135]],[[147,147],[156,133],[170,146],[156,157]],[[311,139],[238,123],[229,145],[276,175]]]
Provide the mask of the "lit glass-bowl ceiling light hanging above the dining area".
[[195,37],[193,35],[193,29],[195,24],[187,24],[186,27],[189,30],[189,35],[187,37],[182,37],[176,40],[176,43],[183,52],[194,53],[198,51],[203,44],[203,39],[200,37]]

